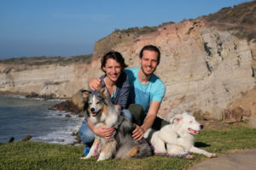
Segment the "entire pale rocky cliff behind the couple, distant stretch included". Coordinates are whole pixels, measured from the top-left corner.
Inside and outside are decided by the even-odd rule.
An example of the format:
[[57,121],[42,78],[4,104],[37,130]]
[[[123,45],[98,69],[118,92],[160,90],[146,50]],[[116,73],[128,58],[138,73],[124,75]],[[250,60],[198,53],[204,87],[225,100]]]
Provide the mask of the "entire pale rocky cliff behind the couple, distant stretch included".
[[[177,112],[191,111],[221,120],[224,109],[234,109],[230,105],[255,86],[256,24],[251,22],[256,17],[255,9],[253,1],[195,20],[157,26],[154,31],[114,31],[96,42],[90,64],[0,63],[0,91],[70,98],[79,88],[87,88],[88,77],[102,74],[102,54],[117,50],[129,67],[138,67],[140,49],[154,44],[161,51],[156,75],[166,84],[160,116],[169,120]],[[237,11],[241,13],[239,18],[231,20]],[[256,101],[250,102],[252,108],[242,109],[255,116]]]

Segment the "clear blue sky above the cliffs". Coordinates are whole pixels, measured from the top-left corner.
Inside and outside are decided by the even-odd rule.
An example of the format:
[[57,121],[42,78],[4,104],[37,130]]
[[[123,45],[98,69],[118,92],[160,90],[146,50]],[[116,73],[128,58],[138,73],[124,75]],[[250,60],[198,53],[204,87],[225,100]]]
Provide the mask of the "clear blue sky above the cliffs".
[[159,26],[248,0],[0,0],[0,59],[93,54],[115,29]]

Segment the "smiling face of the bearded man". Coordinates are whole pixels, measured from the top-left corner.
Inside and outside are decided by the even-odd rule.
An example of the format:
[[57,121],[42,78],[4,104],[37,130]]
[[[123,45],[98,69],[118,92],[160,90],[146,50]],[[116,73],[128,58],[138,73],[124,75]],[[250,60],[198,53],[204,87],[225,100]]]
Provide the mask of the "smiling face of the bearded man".
[[155,51],[144,50],[143,57],[139,58],[143,73],[147,76],[154,73],[157,67],[157,53]]

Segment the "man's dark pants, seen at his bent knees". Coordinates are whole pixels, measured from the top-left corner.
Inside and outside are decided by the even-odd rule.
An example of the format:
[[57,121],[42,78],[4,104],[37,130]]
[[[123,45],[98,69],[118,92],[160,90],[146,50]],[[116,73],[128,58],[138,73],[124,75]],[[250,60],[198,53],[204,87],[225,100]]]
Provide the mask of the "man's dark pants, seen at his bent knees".
[[[144,119],[147,116],[143,111],[143,107],[138,104],[131,104],[129,105],[128,110],[131,112],[132,122],[136,123],[139,126],[143,125]],[[161,127],[164,127],[167,124],[170,123],[156,116],[152,128],[154,128],[155,130],[160,130]]]

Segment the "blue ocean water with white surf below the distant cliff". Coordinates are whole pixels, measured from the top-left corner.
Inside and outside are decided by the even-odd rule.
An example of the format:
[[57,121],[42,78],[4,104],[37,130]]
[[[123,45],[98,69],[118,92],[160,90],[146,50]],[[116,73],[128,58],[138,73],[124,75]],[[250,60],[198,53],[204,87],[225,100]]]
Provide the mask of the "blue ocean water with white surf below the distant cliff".
[[[20,96],[0,95],[0,143],[15,141],[32,135],[31,141],[72,144],[83,117],[49,108],[61,100],[26,99]],[[66,115],[72,117],[66,117]]]

